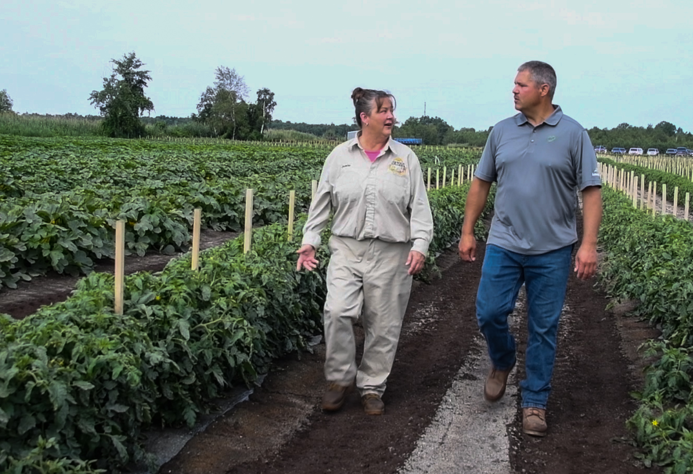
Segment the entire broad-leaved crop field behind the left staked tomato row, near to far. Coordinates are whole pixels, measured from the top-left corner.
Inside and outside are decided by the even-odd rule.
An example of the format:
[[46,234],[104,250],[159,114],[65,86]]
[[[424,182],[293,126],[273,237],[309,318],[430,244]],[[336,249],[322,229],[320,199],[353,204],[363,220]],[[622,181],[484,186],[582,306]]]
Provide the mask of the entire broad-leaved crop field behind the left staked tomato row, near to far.
[[[113,255],[115,220],[127,222],[126,249],[139,255],[184,249],[195,207],[204,227],[240,231],[247,188],[256,224],[283,222],[290,189],[307,209],[331,148],[0,137],[0,286],[90,272]],[[445,148],[419,155],[434,169],[478,159]]]

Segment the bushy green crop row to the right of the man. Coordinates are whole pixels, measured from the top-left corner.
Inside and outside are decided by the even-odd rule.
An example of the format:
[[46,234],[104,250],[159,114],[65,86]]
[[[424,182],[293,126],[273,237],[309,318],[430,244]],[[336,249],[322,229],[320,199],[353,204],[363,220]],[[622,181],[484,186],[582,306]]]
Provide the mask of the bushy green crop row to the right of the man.
[[639,301],[634,314],[663,331],[662,340],[647,344],[656,362],[629,425],[645,464],[693,473],[693,227],[633,209],[611,188],[602,194],[602,281],[612,297]]

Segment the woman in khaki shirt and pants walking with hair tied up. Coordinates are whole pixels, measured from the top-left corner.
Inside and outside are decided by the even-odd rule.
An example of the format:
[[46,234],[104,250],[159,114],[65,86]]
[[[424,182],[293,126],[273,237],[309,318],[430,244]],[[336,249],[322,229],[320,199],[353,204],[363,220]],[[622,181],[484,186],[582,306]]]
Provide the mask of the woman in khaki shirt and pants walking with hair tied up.
[[[426,261],[433,219],[419,159],[391,137],[394,96],[357,87],[351,99],[361,131],[325,160],[296,269],[315,269],[320,232],[333,211],[324,307],[328,388],[322,409],[339,410],[356,380],[365,412],[383,414],[381,396],[412,275]],[[365,345],[357,369],[353,323],[361,313]]]

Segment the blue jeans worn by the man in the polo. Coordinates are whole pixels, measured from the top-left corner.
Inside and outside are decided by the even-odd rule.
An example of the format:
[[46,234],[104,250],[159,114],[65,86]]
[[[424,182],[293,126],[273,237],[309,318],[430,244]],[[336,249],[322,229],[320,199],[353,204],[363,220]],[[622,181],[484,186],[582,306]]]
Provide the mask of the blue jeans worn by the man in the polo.
[[527,290],[526,378],[520,382],[523,407],[546,408],[549,399],[572,247],[523,255],[486,246],[476,311],[496,369],[507,370],[515,364],[515,339],[508,328],[508,315],[523,283]]

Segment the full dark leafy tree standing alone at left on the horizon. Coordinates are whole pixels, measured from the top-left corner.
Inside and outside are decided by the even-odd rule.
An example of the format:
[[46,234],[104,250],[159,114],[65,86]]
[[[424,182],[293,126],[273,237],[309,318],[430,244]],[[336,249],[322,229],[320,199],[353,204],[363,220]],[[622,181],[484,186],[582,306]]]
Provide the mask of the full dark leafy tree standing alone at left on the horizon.
[[91,105],[105,118],[103,127],[109,137],[139,137],[144,125],[139,117],[154,110],[152,100],[145,95],[150,71],[140,70],[145,64],[134,51],[123,59],[112,59],[113,73],[103,78],[103,90],[89,94]]

